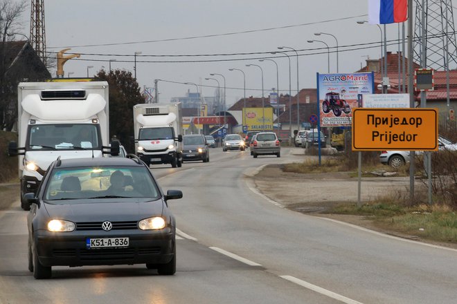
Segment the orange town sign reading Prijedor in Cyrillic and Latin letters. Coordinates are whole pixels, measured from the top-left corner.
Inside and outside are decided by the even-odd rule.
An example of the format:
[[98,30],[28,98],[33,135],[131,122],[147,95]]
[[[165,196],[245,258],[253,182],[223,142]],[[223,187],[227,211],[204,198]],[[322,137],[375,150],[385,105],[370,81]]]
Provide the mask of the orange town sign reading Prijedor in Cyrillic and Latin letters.
[[355,108],[353,151],[437,151],[436,108]]

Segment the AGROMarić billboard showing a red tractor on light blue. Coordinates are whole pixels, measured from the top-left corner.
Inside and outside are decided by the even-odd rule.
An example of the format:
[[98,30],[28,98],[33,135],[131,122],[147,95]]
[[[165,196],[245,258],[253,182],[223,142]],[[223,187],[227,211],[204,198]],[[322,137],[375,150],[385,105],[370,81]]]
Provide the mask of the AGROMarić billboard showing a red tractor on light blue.
[[350,126],[352,109],[361,106],[362,95],[373,94],[373,79],[373,72],[317,73],[317,97],[321,127]]

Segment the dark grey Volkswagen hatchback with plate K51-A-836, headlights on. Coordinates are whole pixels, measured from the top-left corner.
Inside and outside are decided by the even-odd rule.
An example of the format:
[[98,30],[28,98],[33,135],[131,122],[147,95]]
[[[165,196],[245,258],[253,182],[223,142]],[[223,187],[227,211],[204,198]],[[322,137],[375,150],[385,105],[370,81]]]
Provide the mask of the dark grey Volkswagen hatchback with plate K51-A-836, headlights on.
[[50,278],[53,266],[144,263],[176,272],[176,223],[168,200],[136,155],[55,160],[37,194],[27,193],[28,269]]

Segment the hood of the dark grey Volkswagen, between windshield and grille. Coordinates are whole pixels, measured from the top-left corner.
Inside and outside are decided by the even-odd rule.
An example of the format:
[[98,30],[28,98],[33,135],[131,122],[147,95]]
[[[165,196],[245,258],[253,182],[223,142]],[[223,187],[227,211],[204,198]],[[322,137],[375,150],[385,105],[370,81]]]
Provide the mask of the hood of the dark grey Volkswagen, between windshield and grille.
[[161,215],[164,209],[164,202],[161,199],[148,202],[115,200],[119,200],[119,202],[78,203],[75,201],[68,203],[67,201],[65,204],[58,205],[44,203],[44,206],[50,218],[60,218],[73,222],[141,220],[150,216]]

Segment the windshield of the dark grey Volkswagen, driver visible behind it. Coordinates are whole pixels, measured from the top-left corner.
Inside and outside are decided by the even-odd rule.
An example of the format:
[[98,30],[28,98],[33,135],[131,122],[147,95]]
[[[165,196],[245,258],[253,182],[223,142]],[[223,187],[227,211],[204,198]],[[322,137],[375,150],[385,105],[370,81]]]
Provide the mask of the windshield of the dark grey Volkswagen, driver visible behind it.
[[[159,190],[145,167],[75,167],[54,169],[44,200],[91,198],[159,198]],[[61,202],[59,202],[61,203]]]

